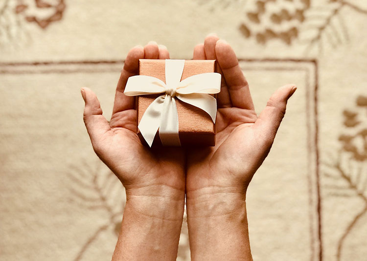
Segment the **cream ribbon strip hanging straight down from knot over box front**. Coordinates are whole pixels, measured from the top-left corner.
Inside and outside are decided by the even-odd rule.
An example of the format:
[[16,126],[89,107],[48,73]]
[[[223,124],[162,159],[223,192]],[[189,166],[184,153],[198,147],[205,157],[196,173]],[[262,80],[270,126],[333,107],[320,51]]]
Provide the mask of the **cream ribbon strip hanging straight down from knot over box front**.
[[164,98],[159,134],[163,146],[181,146],[176,100],[170,95]]

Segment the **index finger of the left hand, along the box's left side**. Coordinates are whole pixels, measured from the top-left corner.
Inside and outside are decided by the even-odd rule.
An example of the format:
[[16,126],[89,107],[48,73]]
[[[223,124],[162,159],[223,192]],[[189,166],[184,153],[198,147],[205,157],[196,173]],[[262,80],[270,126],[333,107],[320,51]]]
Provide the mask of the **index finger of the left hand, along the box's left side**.
[[121,71],[115,94],[113,113],[126,109],[134,109],[134,97],[124,94],[127,79],[138,74],[139,59],[144,59],[144,49],[142,46],[132,48],[126,56],[124,68]]

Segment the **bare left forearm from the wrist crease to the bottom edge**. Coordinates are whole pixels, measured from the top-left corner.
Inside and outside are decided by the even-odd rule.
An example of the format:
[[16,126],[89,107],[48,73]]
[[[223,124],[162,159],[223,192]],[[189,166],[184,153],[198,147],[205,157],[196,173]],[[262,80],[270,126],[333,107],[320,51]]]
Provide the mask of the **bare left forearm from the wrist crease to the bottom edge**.
[[184,191],[127,194],[112,261],[176,260],[183,212]]

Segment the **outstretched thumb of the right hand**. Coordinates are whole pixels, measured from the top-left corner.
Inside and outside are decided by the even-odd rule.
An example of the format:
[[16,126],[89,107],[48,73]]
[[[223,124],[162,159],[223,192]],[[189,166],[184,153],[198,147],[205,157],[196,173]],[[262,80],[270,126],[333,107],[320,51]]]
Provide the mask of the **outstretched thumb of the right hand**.
[[288,99],[296,91],[295,85],[286,85],[279,88],[270,97],[265,109],[260,113],[253,128],[259,130],[258,133],[264,135],[262,138],[269,143],[273,144],[276,131],[284,117],[285,109]]

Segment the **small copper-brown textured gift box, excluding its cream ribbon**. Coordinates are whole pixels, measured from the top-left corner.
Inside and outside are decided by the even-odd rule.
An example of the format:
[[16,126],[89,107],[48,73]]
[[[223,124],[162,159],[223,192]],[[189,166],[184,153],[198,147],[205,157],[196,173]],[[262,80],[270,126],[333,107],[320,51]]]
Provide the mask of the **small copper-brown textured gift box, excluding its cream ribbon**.
[[[185,60],[184,71],[181,81],[192,75],[217,72],[215,60]],[[165,60],[140,59],[139,75],[156,77],[165,82]],[[137,120],[138,125],[141,117],[148,106],[162,94],[137,96]],[[216,95],[213,95],[216,97]],[[215,145],[215,124],[204,110],[176,99],[179,116],[179,137],[181,146],[214,146]],[[139,129],[137,132],[141,143],[147,145]],[[159,131],[152,146],[162,146]]]

